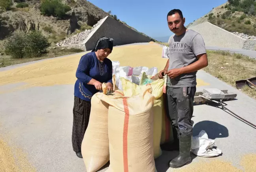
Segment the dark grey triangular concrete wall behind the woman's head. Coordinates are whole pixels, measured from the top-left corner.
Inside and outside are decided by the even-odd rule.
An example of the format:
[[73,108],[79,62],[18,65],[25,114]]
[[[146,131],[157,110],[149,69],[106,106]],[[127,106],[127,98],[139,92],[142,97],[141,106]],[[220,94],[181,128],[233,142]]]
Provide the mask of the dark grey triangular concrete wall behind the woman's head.
[[125,26],[121,22],[107,16],[92,29],[90,34],[85,38],[83,43],[74,45],[64,45],[62,47],[78,48],[85,51],[92,50],[96,41],[100,37],[107,36],[114,39],[114,46],[126,45],[130,43],[145,43],[151,39],[143,34]]

